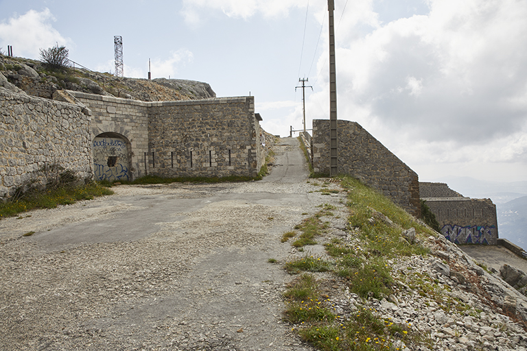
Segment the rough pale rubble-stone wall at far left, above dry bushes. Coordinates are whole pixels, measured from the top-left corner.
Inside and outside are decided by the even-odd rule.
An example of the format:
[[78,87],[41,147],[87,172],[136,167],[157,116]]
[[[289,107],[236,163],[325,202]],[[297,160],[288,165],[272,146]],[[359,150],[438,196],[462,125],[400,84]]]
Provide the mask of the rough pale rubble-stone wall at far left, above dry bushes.
[[0,197],[45,165],[90,178],[90,122],[79,106],[0,88]]

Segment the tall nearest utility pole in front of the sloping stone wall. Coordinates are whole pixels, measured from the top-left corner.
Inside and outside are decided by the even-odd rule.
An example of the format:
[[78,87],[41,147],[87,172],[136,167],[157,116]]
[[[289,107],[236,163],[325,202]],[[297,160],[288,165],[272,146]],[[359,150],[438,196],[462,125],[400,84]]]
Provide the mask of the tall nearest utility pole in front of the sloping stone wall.
[[327,0],[329,10],[329,176],[338,175],[337,74],[335,65],[335,1]]

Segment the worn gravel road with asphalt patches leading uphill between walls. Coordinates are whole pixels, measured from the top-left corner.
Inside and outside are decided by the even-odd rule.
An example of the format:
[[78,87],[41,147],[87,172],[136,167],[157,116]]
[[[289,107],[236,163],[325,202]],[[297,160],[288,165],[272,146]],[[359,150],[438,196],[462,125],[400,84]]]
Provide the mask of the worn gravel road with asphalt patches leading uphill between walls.
[[121,185],[0,221],[0,350],[312,350],[268,259],[344,195],[314,192],[296,139],[275,152],[259,182]]

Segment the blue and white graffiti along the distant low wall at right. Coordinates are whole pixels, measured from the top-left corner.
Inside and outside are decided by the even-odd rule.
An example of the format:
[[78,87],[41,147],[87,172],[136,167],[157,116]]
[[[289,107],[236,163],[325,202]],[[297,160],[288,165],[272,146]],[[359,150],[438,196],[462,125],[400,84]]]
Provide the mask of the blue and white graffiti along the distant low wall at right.
[[441,234],[456,244],[497,244],[497,228],[495,226],[457,226],[447,224],[441,228]]

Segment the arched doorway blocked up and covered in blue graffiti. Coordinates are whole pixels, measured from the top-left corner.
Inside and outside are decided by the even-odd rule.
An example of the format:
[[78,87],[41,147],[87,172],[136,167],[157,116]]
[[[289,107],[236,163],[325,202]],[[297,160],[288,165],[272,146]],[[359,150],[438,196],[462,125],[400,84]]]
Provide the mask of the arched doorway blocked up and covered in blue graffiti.
[[117,133],[102,133],[93,139],[96,180],[129,180],[130,143]]

